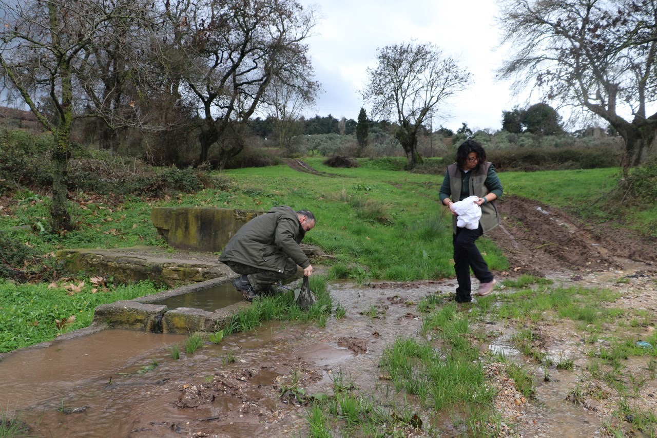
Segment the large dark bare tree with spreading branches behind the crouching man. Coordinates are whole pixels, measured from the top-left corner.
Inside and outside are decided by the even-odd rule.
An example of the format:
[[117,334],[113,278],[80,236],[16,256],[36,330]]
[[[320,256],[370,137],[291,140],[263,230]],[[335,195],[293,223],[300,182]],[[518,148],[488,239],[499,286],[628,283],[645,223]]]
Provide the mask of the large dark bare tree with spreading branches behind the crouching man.
[[311,76],[303,41],[315,14],[292,0],[178,3],[188,7],[171,11],[171,28],[187,30],[177,41],[185,57],[184,65],[171,66],[178,69],[183,98],[193,99],[200,109],[198,162],[208,160],[216,144],[223,166],[244,148],[238,125],[256,111],[271,80],[288,77],[284,72],[290,66],[301,77]]

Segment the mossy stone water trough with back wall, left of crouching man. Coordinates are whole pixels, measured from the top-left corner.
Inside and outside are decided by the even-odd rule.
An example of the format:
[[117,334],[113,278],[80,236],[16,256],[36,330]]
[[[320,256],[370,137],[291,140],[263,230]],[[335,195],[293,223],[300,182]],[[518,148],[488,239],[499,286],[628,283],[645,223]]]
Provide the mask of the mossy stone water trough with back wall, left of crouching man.
[[[131,247],[64,249],[57,258],[68,272],[112,277],[120,283],[150,280],[173,289],[96,308],[94,324],[163,333],[217,331],[246,301],[209,312],[198,308],[168,308],[162,301],[227,283],[237,274],[217,255],[239,228],[261,212],[227,208],[154,208],[151,220],[170,249]],[[330,256],[302,245],[313,264]]]

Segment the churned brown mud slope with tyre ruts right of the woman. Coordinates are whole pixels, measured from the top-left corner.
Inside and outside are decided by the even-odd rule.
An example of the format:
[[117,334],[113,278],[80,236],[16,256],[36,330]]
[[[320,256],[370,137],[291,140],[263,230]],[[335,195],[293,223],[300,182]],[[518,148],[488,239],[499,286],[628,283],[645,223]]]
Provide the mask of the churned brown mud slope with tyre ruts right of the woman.
[[489,233],[518,273],[604,271],[622,268],[617,257],[654,262],[650,246],[637,247],[627,231],[588,226],[557,208],[505,196],[497,204],[501,226]]

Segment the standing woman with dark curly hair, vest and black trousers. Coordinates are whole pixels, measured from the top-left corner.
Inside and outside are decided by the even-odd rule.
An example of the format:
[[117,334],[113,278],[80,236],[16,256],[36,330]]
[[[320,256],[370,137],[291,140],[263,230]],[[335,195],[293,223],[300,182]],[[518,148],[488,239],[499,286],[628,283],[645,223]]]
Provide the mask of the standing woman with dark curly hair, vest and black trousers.
[[[463,201],[466,197],[479,197],[476,204],[482,208],[482,218],[479,228],[468,230],[456,226],[457,213],[452,208],[455,201]],[[480,143],[468,139],[461,143],[456,155],[456,162],[447,166],[445,179],[440,186],[440,202],[449,208],[453,216],[454,231],[454,270],[459,287],[456,289],[457,303],[469,303],[470,268],[479,280],[477,295],[488,295],[495,287],[495,278],[488,270],[484,257],[479,252],[475,241],[480,235],[499,225],[495,199],[502,195],[502,183],[499,181],[493,163],[486,161],[486,151]]]

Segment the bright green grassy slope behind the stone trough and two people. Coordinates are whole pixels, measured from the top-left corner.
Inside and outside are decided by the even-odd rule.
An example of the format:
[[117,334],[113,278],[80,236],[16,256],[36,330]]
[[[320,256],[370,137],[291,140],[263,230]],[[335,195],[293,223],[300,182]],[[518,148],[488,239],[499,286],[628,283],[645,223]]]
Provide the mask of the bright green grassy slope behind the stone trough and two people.
[[[20,191],[12,193],[11,199],[3,198],[0,241],[11,242],[14,251],[5,248],[3,257],[11,256],[16,260],[14,266],[25,271],[34,268],[37,274],[32,276],[35,281],[26,285],[0,279],[0,322],[5,339],[1,351],[45,341],[62,330],[88,324],[93,307],[101,303],[99,297],[116,301],[112,294],[93,296],[95,287],[89,279],[66,278],[67,273],[58,272],[53,253],[75,247],[166,246],[157,239],[150,223],[152,207],[309,208],[317,216],[317,226],[307,234],[306,242],[335,256],[329,278],[363,283],[453,276],[451,218],[438,205],[442,176],[391,170],[399,166],[387,158],[363,160],[360,168],[329,168],[321,158],[307,158],[307,162],[324,173],[306,174],[285,165],[229,170],[212,174],[212,189],[164,198],[75,193],[73,214],[78,227],[62,234],[47,233],[39,227],[47,220],[47,197]],[[549,205],[574,207],[587,197],[600,199],[615,184],[617,173],[616,169],[596,169],[500,176],[508,193],[535,197]],[[491,241],[484,237],[478,245],[492,270],[508,269],[507,260]],[[54,289],[64,291],[61,297],[29,298],[40,296],[53,281],[57,285]],[[64,289],[66,284],[81,281],[85,282],[81,291],[67,295],[71,291]],[[147,295],[158,289],[139,285],[135,290]],[[68,320],[74,314],[68,308],[53,311],[58,300],[71,302],[76,312],[74,324],[57,326],[56,320]],[[30,335],[17,341],[21,337],[18,333],[35,333],[46,327],[49,330],[43,333],[47,335]]]

